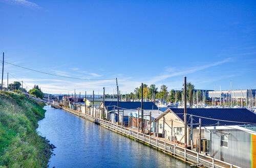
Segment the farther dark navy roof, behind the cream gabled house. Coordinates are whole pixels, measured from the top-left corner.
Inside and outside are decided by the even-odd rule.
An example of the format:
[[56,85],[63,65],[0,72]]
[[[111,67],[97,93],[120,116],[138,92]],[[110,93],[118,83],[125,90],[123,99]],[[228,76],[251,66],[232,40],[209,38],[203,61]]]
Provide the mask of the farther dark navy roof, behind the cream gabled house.
[[[107,110],[113,110],[117,108],[117,101],[105,101],[105,107]],[[119,102],[119,109],[137,109],[141,107],[141,102]],[[143,102],[143,109],[158,109],[153,102]]]

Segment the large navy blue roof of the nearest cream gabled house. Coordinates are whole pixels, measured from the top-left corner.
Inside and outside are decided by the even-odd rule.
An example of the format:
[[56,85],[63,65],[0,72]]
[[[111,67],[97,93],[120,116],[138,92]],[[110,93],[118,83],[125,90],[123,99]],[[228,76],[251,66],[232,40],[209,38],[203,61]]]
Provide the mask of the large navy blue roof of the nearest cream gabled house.
[[[161,116],[169,112],[184,122],[184,108],[167,108]],[[191,122],[191,116],[193,123],[199,123],[201,118],[202,126],[256,124],[256,115],[246,108],[187,108],[187,123]]]

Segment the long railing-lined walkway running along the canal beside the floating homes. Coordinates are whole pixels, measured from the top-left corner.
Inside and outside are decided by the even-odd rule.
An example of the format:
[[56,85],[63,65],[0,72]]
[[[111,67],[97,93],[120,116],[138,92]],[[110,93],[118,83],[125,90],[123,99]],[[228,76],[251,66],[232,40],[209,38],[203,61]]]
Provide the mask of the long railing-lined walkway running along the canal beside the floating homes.
[[[224,162],[219,159],[215,159],[213,157],[177,146],[175,143],[171,144],[165,141],[162,141],[161,139],[152,137],[150,135],[143,134],[141,132],[135,131],[133,129],[126,128],[121,125],[114,124],[109,121],[97,119],[95,117],[92,117],[88,114],[82,114],[79,113],[78,111],[62,107],[63,109],[78,115],[80,117],[86,118],[88,120],[91,120],[95,123],[98,123],[100,125],[103,125],[105,127],[108,127],[109,129],[118,131],[120,133],[123,133],[128,136],[132,136],[135,139],[138,139],[139,141],[143,143],[147,143],[155,148],[161,149],[164,152],[170,153],[176,157],[180,157],[181,159],[190,161],[192,163],[195,163],[197,166],[205,166],[205,167],[239,167],[236,165],[232,165],[230,163]],[[221,165],[220,165],[221,164]]]

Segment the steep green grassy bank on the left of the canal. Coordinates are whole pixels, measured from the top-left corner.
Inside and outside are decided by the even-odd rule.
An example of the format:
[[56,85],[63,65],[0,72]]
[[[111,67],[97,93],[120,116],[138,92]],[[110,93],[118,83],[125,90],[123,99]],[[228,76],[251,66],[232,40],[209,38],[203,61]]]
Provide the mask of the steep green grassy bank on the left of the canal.
[[51,151],[36,133],[45,104],[11,92],[0,92],[0,167],[46,167]]

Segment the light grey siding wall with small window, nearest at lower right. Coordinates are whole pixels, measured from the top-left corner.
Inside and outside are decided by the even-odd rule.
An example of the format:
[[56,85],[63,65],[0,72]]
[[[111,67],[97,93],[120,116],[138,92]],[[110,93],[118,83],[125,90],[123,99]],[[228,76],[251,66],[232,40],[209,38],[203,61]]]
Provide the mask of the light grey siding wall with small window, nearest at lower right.
[[[251,167],[251,134],[237,130],[225,129],[229,132],[228,148],[221,146],[221,133],[211,130],[211,156],[240,167]],[[210,133],[205,131],[205,137],[210,139]]]

